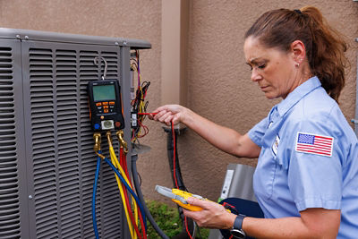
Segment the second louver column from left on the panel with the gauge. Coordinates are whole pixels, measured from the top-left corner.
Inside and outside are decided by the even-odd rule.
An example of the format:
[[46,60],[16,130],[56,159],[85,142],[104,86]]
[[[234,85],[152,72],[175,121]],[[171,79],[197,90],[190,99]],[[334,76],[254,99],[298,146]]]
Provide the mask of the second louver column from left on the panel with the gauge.
[[[81,235],[80,175],[77,134],[77,55],[55,51],[58,192],[62,238]],[[73,193],[76,192],[76,193]]]

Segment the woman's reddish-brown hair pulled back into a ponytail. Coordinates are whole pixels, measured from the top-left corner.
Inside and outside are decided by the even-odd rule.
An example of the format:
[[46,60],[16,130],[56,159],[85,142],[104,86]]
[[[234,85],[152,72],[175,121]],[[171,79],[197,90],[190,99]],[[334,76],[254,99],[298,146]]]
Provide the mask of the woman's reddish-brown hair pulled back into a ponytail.
[[307,6],[300,10],[277,9],[263,13],[246,32],[259,38],[266,47],[288,51],[294,40],[301,40],[311,73],[317,75],[322,87],[338,101],[345,86],[346,43],[337,30],[328,26],[320,10]]

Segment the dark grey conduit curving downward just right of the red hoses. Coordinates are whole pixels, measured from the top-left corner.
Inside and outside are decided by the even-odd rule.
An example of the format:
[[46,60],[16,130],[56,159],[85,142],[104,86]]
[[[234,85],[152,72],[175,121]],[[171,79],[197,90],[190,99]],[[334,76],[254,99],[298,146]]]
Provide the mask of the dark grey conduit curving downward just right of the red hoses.
[[147,205],[145,204],[143,193],[141,192],[141,184],[138,178],[137,159],[138,159],[137,155],[132,156],[132,176],[133,176],[135,191],[137,192],[137,195],[140,198],[141,205],[143,206],[143,209],[146,213],[147,218],[149,219],[150,224],[157,231],[158,235],[160,235],[163,239],[169,239],[169,237],[160,229],[154,218],[151,216],[150,211],[147,208]]

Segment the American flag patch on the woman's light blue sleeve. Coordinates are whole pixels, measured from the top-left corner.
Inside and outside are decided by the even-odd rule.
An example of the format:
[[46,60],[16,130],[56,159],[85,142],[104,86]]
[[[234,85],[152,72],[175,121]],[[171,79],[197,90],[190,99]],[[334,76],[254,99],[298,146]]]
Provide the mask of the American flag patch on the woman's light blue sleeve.
[[333,137],[298,132],[296,151],[322,156],[332,156]]

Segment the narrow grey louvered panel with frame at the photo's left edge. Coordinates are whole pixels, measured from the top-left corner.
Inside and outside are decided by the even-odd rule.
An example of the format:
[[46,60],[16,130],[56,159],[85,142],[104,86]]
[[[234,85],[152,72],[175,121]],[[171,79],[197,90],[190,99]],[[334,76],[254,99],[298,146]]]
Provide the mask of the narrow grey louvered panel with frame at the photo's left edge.
[[0,39],[0,238],[26,238],[21,44]]

